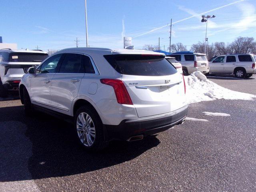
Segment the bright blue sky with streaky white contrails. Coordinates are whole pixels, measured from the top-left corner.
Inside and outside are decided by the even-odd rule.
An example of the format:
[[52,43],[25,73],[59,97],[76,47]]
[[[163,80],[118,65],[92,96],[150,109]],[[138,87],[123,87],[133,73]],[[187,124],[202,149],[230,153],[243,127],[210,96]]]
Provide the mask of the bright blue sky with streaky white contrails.
[[[84,0],[1,0],[0,36],[18,48],[59,50],[85,46]],[[88,40],[91,47],[122,48],[122,36],[144,44],[190,45],[203,41],[206,24],[201,13],[216,15],[208,22],[209,43],[232,42],[238,36],[256,38],[255,0],[87,0]]]

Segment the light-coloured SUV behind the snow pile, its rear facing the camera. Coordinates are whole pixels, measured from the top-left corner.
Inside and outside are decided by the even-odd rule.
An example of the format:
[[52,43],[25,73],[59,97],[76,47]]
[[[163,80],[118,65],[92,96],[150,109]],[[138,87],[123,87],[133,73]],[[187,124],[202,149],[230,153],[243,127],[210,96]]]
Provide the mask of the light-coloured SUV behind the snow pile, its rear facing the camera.
[[206,54],[182,51],[167,56],[175,57],[182,64],[183,75],[189,75],[195,71],[200,71],[204,74],[209,72],[209,62]]

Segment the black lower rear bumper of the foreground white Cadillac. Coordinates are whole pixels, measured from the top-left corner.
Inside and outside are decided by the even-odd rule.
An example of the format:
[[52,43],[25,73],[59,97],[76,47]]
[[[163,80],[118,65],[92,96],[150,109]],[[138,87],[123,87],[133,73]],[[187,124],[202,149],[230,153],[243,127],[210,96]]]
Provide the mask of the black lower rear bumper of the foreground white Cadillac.
[[188,106],[169,114],[140,119],[126,119],[119,125],[106,125],[107,140],[128,140],[133,136],[152,135],[181,124],[188,114]]

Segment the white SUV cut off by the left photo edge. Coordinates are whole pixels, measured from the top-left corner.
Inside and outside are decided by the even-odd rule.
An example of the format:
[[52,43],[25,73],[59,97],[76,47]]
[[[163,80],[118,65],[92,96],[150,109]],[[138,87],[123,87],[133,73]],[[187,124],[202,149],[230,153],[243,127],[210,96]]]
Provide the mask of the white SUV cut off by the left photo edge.
[[6,97],[8,90],[18,90],[28,68],[38,66],[47,57],[41,50],[0,50],[0,97]]

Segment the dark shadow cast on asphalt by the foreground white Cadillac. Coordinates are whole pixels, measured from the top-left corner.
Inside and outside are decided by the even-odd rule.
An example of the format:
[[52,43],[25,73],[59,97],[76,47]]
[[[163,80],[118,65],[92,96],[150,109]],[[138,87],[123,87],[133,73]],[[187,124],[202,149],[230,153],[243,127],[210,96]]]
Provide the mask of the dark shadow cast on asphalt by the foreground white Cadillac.
[[[14,164],[17,172],[21,171],[23,166],[28,166],[31,176],[28,177],[22,172],[18,174],[12,172],[13,168],[8,168],[12,164],[6,162],[6,165],[3,165],[6,174],[1,176],[1,181],[50,178],[90,172],[132,160],[160,143],[154,135],[135,142],[113,141],[106,149],[89,153],[77,146],[70,134],[73,127],[71,124],[39,112],[35,112],[33,117],[27,117],[22,106],[5,107],[0,110],[0,122],[16,120],[26,125],[25,135],[31,143],[18,144],[32,146],[30,147],[32,152],[16,150],[18,152],[15,156],[8,152],[1,154],[5,159],[9,159],[9,162],[16,162]],[[1,137],[3,143],[4,140],[10,140],[8,136]],[[16,133],[15,137],[18,138],[19,134]],[[17,147],[17,143],[8,147],[10,151]],[[19,160],[26,155],[30,156],[27,157],[28,163],[19,164]]]

